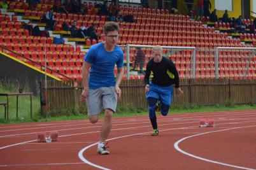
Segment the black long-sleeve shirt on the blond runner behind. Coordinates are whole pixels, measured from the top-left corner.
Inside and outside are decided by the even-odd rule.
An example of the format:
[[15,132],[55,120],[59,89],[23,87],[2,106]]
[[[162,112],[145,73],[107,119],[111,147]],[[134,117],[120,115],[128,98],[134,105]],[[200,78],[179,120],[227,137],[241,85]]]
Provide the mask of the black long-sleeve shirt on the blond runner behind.
[[[162,57],[161,62],[156,63],[151,59],[146,64],[146,74],[144,78],[145,85],[149,84],[149,77],[153,72],[152,83],[159,86],[170,86],[175,85],[176,88],[180,87],[179,74],[172,60]],[[169,76],[167,71],[171,72],[173,76]]]

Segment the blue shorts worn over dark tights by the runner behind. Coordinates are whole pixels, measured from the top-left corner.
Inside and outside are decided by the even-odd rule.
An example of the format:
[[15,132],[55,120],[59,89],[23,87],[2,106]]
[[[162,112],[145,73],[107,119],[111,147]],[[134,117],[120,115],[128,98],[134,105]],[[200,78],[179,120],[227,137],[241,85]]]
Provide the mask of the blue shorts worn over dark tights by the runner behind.
[[159,99],[160,103],[171,106],[171,102],[173,101],[173,87],[162,87],[150,82],[150,89],[146,93],[146,98],[148,97]]

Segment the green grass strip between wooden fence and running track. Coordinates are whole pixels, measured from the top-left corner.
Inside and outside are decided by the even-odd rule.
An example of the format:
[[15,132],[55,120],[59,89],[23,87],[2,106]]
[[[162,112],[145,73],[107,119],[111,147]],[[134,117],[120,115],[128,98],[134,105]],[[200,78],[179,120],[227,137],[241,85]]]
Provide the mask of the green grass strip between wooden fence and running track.
[[[27,90],[24,90],[27,91]],[[18,92],[18,87],[8,83],[0,82],[0,92]],[[69,112],[66,115],[57,114],[55,117],[45,117],[40,116],[40,101],[39,96],[32,97],[32,119],[30,118],[30,98],[29,96],[19,97],[18,106],[18,119],[16,119],[16,97],[9,97],[10,107],[9,107],[9,120],[4,120],[4,107],[0,107],[0,124],[10,124],[10,123],[22,123],[22,122],[45,122],[45,121],[58,121],[58,120],[81,120],[87,119],[86,108],[82,107],[82,110],[77,112]],[[0,97],[0,102],[6,101],[6,97]],[[169,110],[169,114],[178,113],[196,113],[196,112],[212,112],[212,111],[231,111],[231,110],[256,110],[256,104],[243,104],[237,105],[231,101],[227,101],[224,104],[217,104],[216,106],[197,106],[196,104],[183,104],[181,106],[172,107]],[[159,114],[159,113],[157,113]],[[136,117],[148,115],[146,108],[135,108],[133,106],[122,106],[118,105],[117,113],[113,117]],[[100,117],[104,114],[101,113]]]

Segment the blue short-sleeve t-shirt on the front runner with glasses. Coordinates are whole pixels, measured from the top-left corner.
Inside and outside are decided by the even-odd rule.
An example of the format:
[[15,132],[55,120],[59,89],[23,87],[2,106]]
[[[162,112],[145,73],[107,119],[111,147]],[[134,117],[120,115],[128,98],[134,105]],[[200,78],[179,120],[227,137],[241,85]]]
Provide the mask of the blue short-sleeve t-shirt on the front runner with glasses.
[[124,66],[124,52],[119,46],[108,52],[104,43],[90,46],[89,52],[83,57],[86,62],[92,64],[90,67],[89,88],[115,86],[114,68]]

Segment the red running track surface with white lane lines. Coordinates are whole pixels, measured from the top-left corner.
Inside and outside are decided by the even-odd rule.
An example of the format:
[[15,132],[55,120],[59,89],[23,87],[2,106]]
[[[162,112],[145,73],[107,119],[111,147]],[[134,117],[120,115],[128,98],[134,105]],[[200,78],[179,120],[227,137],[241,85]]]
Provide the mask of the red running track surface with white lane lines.
[[[157,118],[159,136],[148,117],[114,118],[110,155],[96,153],[102,121],[0,125],[0,169],[256,169],[255,110]],[[217,127],[200,128],[199,118]],[[38,143],[44,131],[59,131],[59,141]]]

